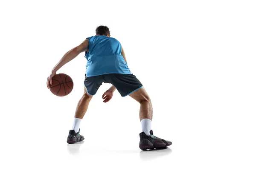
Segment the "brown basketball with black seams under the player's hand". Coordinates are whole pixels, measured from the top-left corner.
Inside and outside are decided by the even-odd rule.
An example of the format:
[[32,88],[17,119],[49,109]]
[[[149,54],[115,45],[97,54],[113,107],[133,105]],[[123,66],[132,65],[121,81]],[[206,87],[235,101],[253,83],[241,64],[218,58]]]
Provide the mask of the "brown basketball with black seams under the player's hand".
[[56,74],[54,77],[52,77],[50,91],[56,96],[67,96],[72,91],[73,85],[73,80],[67,74]]

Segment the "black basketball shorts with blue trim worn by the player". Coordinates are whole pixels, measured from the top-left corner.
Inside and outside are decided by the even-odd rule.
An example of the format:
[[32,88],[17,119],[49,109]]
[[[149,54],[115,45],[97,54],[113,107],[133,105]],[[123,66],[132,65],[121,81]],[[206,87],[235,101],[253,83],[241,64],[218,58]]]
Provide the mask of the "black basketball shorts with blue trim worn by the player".
[[116,87],[122,97],[143,87],[141,82],[133,74],[102,74],[92,77],[86,77],[85,74],[84,86],[90,95],[96,94],[102,82],[111,83]]

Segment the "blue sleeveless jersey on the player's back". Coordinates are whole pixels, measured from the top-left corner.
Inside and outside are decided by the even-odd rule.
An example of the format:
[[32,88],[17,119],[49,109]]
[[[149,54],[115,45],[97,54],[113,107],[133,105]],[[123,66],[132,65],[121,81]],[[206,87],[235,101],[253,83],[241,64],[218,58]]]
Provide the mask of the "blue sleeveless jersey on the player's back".
[[102,74],[131,74],[124,57],[121,55],[122,47],[118,40],[105,35],[96,35],[87,38],[89,51],[85,51],[87,59],[86,77]]

